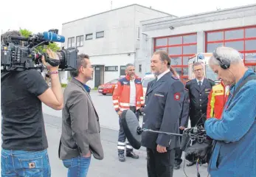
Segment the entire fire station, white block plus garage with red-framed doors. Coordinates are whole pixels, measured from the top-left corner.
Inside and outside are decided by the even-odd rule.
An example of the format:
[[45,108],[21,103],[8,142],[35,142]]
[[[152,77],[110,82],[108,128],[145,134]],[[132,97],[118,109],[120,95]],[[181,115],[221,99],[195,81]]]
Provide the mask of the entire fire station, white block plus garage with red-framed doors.
[[[153,52],[164,49],[171,65],[187,80],[187,60],[217,46],[231,46],[243,55],[246,66],[256,70],[256,4],[209,13],[177,17],[131,4],[62,25],[65,48],[77,47],[94,66],[91,88],[125,74],[134,63],[136,73],[150,72]],[[68,72],[60,74],[66,83]]]

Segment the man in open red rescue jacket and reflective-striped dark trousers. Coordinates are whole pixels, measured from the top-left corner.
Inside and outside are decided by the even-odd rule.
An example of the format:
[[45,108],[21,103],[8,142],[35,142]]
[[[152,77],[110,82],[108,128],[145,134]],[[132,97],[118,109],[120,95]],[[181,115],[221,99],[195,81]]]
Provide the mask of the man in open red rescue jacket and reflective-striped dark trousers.
[[[143,103],[143,89],[141,80],[135,75],[135,67],[133,64],[128,63],[125,69],[126,76],[118,80],[117,85],[113,92],[113,104],[114,109],[117,111],[117,114],[122,114],[122,111],[130,109],[134,111],[138,120],[139,113],[138,110],[142,107]],[[120,123],[120,130],[118,135],[118,158],[120,162],[125,161],[125,147],[126,147],[126,156],[138,159],[139,156],[133,152],[133,147],[129,142],[125,143],[125,133],[123,131],[122,125]]]

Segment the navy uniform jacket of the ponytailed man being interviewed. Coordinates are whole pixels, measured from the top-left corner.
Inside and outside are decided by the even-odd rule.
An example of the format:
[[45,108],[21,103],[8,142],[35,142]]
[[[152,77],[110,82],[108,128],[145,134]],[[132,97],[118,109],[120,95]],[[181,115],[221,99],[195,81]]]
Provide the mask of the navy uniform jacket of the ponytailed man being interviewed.
[[[170,72],[148,83],[142,128],[179,133],[183,100],[184,85]],[[180,147],[179,136],[143,131],[142,146],[156,149],[156,145],[169,150]]]

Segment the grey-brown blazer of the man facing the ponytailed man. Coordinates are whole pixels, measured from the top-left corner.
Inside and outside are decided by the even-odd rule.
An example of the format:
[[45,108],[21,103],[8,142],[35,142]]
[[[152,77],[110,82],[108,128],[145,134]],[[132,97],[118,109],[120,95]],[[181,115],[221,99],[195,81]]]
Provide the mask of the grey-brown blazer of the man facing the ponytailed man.
[[64,91],[59,158],[84,156],[89,150],[103,159],[99,117],[83,83],[73,78]]

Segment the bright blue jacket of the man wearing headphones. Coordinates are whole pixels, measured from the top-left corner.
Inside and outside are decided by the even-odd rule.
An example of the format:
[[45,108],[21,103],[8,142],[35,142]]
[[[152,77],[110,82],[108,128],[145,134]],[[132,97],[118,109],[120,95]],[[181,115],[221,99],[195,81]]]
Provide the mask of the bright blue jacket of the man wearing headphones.
[[[248,69],[239,86],[249,75],[255,74]],[[234,86],[224,107],[221,119],[207,119],[207,135],[217,140],[210,160],[210,176],[255,177],[256,176],[256,80],[248,81],[230,102]]]

